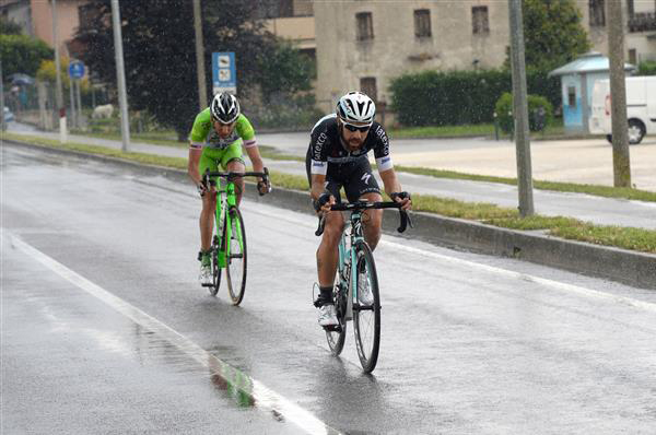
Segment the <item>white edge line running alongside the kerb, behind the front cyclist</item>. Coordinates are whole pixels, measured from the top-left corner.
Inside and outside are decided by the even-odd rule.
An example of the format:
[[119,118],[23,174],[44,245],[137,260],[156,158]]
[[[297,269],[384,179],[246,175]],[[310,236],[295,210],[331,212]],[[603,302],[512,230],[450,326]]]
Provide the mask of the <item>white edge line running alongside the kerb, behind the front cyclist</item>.
[[[302,220],[300,217],[292,216],[292,215],[284,215],[282,213],[270,211],[270,210],[262,211],[261,209],[258,210],[258,208],[256,208],[255,205],[250,205],[250,204],[248,204],[248,205],[249,205],[248,207],[249,213],[257,213],[257,214],[261,214],[265,216],[276,216],[277,219],[292,222],[297,225],[303,225],[303,226],[311,227],[311,228],[316,227],[316,224],[313,225],[313,224],[308,223],[307,220]],[[317,243],[318,243],[318,240],[317,240]],[[406,252],[437,259],[443,262],[450,262],[450,263],[458,264],[458,266],[465,266],[467,268],[478,269],[478,270],[481,270],[481,271],[484,271],[488,273],[494,273],[494,274],[503,275],[505,278],[509,278],[509,279],[514,279],[514,280],[535,282],[536,284],[540,284],[546,287],[551,287],[551,289],[555,289],[555,290],[564,291],[564,292],[577,293],[579,295],[587,296],[587,297],[596,297],[596,298],[600,298],[600,299],[605,299],[605,301],[611,301],[614,303],[622,303],[622,304],[631,305],[636,308],[642,308],[642,309],[646,309],[648,311],[656,313],[656,304],[634,299],[632,297],[614,295],[611,293],[600,292],[598,290],[586,289],[581,285],[567,284],[564,282],[554,281],[554,280],[550,280],[547,278],[540,278],[540,277],[531,275],[531,274],[524,273],[524,272],[515,272],[512,270],[497,268],[494,266],[482,264],[482,263],[479,263],[476,261],[465,260],[465,259],[456,258],[456,257],[449,257],[449,256],[446,256],[443,254],[432,252],[430,250],[420,249],[420,248],[415,248],[412,246],[406,246],[406,245],[402,245],[402,244],[399,244],[396,242],[390,242],[390,240],[387,240],[384,238],[382,238],[380,242],[378,242],[378,245],[380,245],[380,244],[388,246],[390,248],[397,249],[397,250],[402,250]]]

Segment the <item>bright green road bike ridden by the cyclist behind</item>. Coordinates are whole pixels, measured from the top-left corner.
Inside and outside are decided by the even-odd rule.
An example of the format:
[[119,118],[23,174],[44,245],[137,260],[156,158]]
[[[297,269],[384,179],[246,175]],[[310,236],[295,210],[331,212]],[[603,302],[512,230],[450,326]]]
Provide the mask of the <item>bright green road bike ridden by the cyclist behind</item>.
[[[269,186],[269,171],[262,173],[233,173],[206,171],[202,183],[216,187],[216,212],[214,213],[214,235],[212,237],[212,282],[202,284],[215,296],[221,285],[221,270],[225,269],[227,292],[233,305],[239,305],[246,291],[246,230],[237,208],[235,178],[261,177]],[[222,183],[222,180],[225,180]],[[261,195],[261,193],[260,193]]]

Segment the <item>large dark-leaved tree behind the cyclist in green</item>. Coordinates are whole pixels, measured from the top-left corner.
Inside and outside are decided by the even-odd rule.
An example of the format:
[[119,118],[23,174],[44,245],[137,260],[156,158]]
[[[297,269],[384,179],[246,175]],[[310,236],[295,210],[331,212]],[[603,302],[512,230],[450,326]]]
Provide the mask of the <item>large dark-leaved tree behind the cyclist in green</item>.
[[[102,80],[114,83],[110,3],[92,3],[96,14],[77,35],[86,47],[82,59]],[[258,59],[266,58],[276,43],[262,22],[251,19],[257,7],[251,1],[202,2],[206,64],[210,64],[212,51],[234,51],[239,96],[253,91],[260,79]],[[198,111],[191,1],[124,1],[120,16],[130,108],[147,109],[159,122],[175,128],[180,139],[186,138]],[[207,70],[210,87],[211,70]]]

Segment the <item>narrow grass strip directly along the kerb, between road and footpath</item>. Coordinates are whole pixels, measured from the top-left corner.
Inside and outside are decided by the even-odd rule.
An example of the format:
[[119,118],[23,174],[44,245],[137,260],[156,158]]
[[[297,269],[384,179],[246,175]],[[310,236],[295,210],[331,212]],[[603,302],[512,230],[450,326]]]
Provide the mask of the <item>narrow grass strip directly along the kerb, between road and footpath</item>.
[[[58,141],[49,139],[26,138],[24,136],[11,133],[3,133],[2,137],[8,140],[27,144],[37,144],[54,149],[99,154],[126,161],[167,166],[178,169],[187,168],[186,158],[122,152],[120,150],[86,145],[82,143],[60,144]],[[307,191],[307,179],[301,175],[272,172],[271,183],[273,186]],[[522,231],[539,230],[546,232],[547,234],[565,239],[656,254],[656,231],[654,230],[595,225],[589,222],[583,222],[573,217],[563,216],[535,215],[523,219],[519,216],[516,209],[497,207],[490,203],[464,202],[429,195],[414,195],[412,201],[414,203],[413,209],[417,211],[478,221],[503,228]]]

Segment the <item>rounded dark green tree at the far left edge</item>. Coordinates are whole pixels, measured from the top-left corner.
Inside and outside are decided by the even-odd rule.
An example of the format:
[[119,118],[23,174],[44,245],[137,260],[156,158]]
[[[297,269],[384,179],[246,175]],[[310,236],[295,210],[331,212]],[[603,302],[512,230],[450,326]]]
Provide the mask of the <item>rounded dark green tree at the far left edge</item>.
[[34,77],[42,60],[52,59],[52,49],[27,35],[0,35],[0,56],[4,77],[20,72]]

